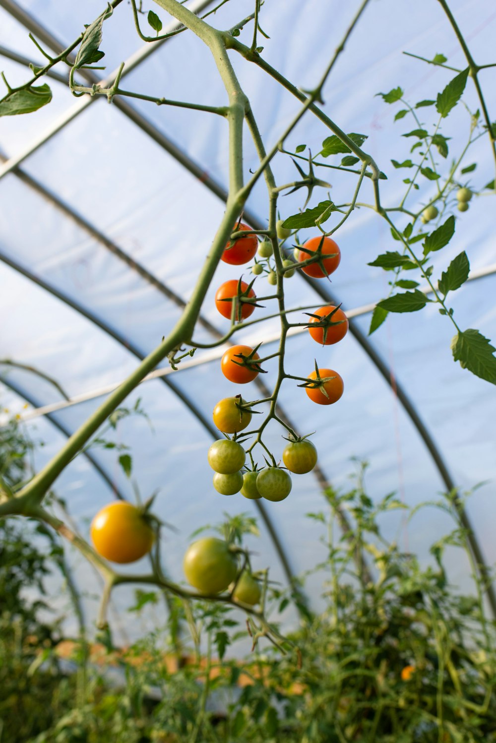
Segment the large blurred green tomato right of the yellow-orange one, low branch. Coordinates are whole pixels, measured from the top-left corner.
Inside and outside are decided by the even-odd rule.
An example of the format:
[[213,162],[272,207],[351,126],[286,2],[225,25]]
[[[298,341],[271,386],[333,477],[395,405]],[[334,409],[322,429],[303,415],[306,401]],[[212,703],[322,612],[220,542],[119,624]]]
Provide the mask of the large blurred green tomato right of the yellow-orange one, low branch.
[[238,563],[227,542],[215,536],[204,536],[189,545],[183,570],[188,583],[202,594],[218,594],[235,580]]

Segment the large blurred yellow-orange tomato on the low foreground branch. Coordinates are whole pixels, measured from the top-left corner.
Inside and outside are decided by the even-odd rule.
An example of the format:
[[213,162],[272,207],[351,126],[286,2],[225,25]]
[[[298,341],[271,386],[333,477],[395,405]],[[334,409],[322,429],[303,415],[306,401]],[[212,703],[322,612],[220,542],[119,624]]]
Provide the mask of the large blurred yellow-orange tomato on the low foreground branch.
[[112,562],[134,562],[151,550],[154,533],[140,508],[127,501],[108,504],[91,522],[91,541]]

